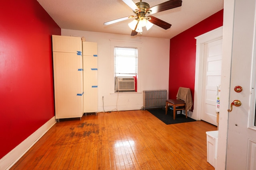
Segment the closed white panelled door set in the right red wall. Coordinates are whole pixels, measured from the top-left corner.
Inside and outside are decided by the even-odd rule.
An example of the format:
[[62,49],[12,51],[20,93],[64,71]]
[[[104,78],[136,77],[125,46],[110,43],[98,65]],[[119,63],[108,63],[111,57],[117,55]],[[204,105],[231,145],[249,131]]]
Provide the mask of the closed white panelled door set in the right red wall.
[[204,79],[201,119],[217,125],[216,96],[221,79],[222,39],[204,45]]

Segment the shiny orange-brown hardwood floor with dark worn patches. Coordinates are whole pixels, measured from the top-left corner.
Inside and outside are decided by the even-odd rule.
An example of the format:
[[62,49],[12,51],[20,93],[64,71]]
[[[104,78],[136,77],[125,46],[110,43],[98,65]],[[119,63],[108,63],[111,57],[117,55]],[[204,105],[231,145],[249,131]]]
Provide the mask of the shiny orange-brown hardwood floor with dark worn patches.
[[12,170],[214,170],[204,121],[166,125],[148,111],[57,122]]

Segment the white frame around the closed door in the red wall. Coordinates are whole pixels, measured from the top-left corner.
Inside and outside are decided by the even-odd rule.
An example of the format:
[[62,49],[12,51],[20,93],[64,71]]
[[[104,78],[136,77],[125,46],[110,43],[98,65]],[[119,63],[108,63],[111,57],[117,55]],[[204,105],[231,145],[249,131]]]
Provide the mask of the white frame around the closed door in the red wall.
[[204,78],[204,45],[211,41],[222,39],[223,26],[213,29],[207,33],[195,37],[196,39],[196,70],[195,70],[195,87],[194,87],[194,110],[192,118],[201,120],[202,114],[202,94]]

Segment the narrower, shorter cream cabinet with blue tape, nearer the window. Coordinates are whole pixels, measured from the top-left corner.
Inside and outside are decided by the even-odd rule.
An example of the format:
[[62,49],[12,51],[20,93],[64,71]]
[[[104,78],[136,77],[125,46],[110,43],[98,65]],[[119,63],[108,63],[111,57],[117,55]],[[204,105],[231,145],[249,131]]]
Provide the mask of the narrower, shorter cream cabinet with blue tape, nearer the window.
[[84,113],[98,111],[97,43],[83,42]]

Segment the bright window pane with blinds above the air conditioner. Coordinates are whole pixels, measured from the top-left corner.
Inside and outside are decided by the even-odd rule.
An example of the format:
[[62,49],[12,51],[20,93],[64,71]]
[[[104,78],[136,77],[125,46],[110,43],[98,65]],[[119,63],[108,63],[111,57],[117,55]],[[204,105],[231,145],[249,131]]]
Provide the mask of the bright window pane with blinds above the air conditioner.
[[138,49],[114,47],[114,73],[116,76],[137,76]]

